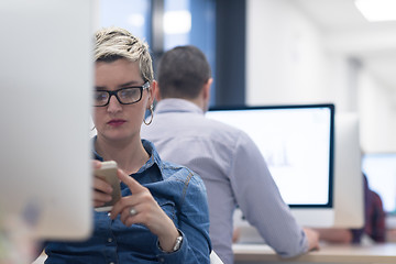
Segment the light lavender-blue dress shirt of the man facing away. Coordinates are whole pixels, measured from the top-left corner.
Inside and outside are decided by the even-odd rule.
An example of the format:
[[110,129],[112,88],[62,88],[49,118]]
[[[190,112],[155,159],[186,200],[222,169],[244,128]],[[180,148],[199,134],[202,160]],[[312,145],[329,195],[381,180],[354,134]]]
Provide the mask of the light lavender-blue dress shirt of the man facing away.
[[202,177],[209,201],[209,234],[224,263],[233,263],[237,205],[280,256],[308,250],[307,238],[282,199],[264,157],[244,132],[205,118],[190,101],[164,99],[155,108],[152,124],[142,125],[141,135],[155,144],[164,160]]

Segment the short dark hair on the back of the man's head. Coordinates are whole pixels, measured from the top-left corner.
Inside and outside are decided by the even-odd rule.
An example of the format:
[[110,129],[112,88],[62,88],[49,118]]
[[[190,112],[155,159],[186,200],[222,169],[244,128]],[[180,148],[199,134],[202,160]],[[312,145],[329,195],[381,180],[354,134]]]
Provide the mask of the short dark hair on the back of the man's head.
[[191,45],[166,52],[157,69],[162,98],[195,99],[211,77],[205,54]]

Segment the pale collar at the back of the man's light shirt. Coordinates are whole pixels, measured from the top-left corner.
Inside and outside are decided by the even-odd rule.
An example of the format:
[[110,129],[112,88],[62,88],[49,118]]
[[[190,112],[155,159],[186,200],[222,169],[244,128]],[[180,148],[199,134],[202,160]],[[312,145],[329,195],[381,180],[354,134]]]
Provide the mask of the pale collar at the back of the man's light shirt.
[[202,109],[200,109],[197,105],[179,98],[167,98],[158,101],[155,106],[155,113],[165,112],[193,112],[204,114]]

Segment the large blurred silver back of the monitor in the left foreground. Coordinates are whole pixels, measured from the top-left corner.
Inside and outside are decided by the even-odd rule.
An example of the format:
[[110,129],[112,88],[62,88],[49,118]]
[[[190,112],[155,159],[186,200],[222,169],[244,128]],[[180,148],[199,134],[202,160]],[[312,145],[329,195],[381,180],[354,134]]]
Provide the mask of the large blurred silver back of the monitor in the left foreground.
[[94,4],[0,1],[0,231],[90,234]]

